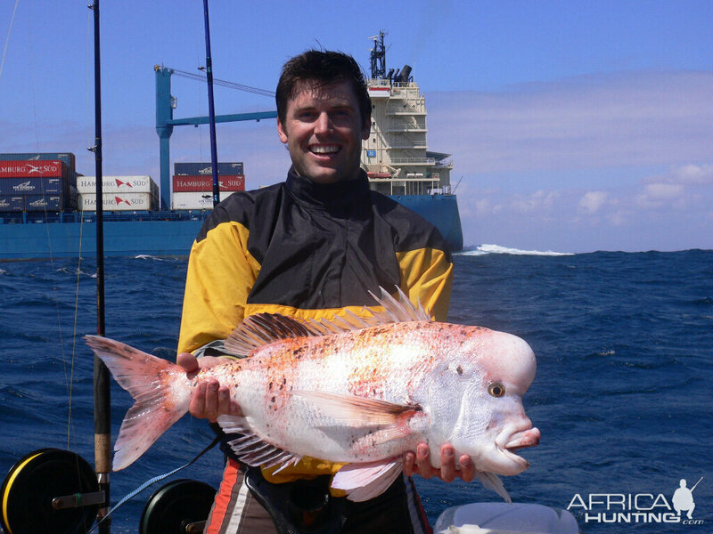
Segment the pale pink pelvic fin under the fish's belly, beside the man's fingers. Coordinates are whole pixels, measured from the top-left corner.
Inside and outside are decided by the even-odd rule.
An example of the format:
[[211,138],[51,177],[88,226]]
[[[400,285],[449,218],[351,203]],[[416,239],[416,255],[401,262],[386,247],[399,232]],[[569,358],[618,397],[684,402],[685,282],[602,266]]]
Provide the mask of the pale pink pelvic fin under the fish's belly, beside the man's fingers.
[[332,488],[347,492],[348,500],[363,502],[386,491],[403,471],[401,457],[366,464],[344,465],[332,479]]

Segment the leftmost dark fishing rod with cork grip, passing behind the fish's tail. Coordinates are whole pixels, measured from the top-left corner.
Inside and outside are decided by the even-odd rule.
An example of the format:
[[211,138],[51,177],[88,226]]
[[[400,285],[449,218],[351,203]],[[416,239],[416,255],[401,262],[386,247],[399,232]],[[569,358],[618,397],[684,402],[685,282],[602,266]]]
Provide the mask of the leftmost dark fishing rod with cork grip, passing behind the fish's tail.
[[[99,0],[88,6],[94,12],[94,152],[96,173],[96,333],[106,334],[104,323],[104,225],[102,202],[102,60]],[[97,513],[101,521],[109,511],[111,473],[111,395],[109,369],[94,356],[94,472],[104,500]],[[109,534],[111,520],[102,522],[100,534]]]

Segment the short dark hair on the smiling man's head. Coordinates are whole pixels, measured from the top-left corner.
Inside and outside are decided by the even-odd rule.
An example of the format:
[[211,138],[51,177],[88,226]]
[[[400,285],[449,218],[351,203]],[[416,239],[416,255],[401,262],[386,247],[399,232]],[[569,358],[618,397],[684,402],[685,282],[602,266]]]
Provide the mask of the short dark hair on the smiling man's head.
[[284,124],[287,114],[287,102],[296,96],[298,85],[303,82],[315,84],[317,87],[347,82],[356,95],[362,125],[371,120],[372,101],[366,88],[364,72],[349,54],[307,50],[284,64],[275,91],[277,117],[281,123]]

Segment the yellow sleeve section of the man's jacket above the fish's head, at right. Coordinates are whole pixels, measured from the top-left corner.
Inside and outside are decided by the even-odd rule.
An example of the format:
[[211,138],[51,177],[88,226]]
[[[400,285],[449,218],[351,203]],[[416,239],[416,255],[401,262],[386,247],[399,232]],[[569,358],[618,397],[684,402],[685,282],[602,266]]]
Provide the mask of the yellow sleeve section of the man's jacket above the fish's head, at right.
[[419,301],[430,316],[445,321],[453,285],[450,256],[437,248],[418,248],[397,252],[401,270],[401,290],[417,305]]

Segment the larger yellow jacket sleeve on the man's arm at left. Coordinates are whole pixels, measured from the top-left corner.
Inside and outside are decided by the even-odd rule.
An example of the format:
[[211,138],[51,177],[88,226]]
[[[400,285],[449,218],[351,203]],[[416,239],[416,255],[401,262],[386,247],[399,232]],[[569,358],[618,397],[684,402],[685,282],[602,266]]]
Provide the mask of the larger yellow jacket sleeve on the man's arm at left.
[[185,277],[178,352],[193,352],[225,339],[245,315],[260,266],[248,252],[249,231],[240,223],[218,224],[195,241]]

